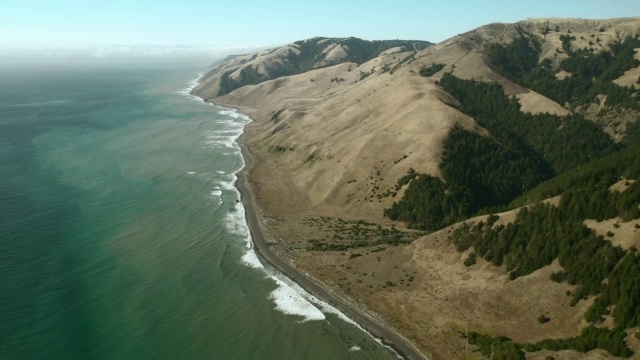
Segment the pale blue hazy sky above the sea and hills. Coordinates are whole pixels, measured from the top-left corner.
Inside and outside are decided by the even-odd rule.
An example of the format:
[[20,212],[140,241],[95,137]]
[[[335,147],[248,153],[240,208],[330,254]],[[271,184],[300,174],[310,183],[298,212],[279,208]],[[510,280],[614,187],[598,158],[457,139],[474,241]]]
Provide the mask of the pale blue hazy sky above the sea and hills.
[[439,42],[491,22],[626,16],[640,16],[639,0],[0,0],[0,48],[104,57],[237,52],[314,36]]

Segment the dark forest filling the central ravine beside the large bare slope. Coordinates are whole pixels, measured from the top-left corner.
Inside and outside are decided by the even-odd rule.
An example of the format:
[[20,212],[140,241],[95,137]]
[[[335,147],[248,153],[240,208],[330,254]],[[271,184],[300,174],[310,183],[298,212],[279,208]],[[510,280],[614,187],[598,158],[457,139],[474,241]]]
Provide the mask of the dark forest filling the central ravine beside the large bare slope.
[[523,113],[498,84],[451,73],[439,84],[491,137],[460,126],[451,130],[440,164],[444,181],[416,174],[403,198],[385,209],[386,216],[410,227],[436,230],[503,208],[543,181],[620,148],[579,115]]

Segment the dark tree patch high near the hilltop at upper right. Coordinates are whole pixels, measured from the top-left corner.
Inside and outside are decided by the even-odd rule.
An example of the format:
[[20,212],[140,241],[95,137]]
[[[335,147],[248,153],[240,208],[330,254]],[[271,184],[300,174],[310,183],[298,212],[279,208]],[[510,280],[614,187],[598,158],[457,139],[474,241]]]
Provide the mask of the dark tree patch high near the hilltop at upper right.
[[[625,71],[640,65],[634,58],[640,48],[640,35],[619,37],[609,44],[609,50],[594,53],[592,49],[572,50],[574,36],[561,35],[562,47],[567,58],[559,68],[550,59],[538,63],[541,40],[521,32],[521,37],[508,45],[492,44],[489,57],[500,73],[509,80],[534,90],[561,105],[575,108],[597,102],[597,95],[607,95],[606,105],[640,110],[640,98],[634,97],[633,87],[621,87],[612,81]],[[562,80],[558,71],[571,74]]]

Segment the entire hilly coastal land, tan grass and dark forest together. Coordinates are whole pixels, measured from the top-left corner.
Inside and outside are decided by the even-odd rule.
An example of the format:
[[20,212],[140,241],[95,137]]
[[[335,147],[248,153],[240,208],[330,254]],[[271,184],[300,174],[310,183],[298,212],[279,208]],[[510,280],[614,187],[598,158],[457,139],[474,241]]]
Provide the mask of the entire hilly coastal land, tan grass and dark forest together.
[[295,72],[223,90],[283,47],[195,93],[256,120],[273,250],[436,358],[628,357],[639,34],[640,18],[550,18],[358,59],[309,47]]

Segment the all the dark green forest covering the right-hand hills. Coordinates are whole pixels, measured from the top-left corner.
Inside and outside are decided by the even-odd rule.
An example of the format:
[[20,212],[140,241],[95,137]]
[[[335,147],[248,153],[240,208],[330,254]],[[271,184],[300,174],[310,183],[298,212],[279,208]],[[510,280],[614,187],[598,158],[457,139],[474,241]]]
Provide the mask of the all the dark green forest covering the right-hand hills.
[[[572,46],[575,37],[561,37],[567,57],[554,68],[538,61],[541,40],[522,33],[511,44],[493,44],[489,58],[505,77],[575,110],[606,95],[610,108],[640,110],[633,88],[612,80],[639,66],[633,58],[639,37],[619,38],[609,49],[594,53]],[[424,68],[423,76],[435,67]],[[563,80],[555,73],[572,76]],[[409,227],[437,230],[479,214],[485,221],[463,223],[449,236],[458,251],[468,251],[465,266],[479,258],[504,268],[514,280],[559,261],[562,271],[550,281],[574,286],[568,305],[595,299],[584,314],[589,324],[580,335],[519,344],[503,336],[471,331],[468,340],[493,359],[525,359],[525,352],[604,349],[631,357],[627,329],[640,326],[640,253],[610,241],[621,223],[640,218],[640,122],[627,126],[615,143],[594,122],[574,114],[525,114],[499,84],[463,80],[445,73],[438,83],[455,97],[457,108],[473,117],[489,136],[455,126],[443,144],[442,178],[410,169],[395,191],[404,196],[385,215]],[[611,190],[622,182],[624,191]],[[557,205],[543,202],[559,196]],[[496,225],[496,212],[520,208],[516,219]],[[617,219],[606,236],[585,225],[586,219]],[[640,231],[640,223],[635,226]],[[612,326],[603,326],[605,319]],[[541,324],[553,321],[543,315]]]

